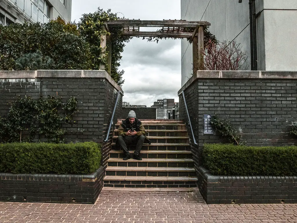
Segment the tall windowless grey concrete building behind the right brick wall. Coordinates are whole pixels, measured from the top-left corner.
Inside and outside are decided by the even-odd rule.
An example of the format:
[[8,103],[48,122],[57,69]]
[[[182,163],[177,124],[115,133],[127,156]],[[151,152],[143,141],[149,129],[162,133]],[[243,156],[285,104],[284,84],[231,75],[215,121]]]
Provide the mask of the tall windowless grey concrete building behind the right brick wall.
[[[297,70],[297,0],[256,0],[258,70]],[[181,0],[181,19],[208,21],[218,40],[235,40],[250,60],[249,0]],[[192,74],[192,46],[181,41],[181,86]]]

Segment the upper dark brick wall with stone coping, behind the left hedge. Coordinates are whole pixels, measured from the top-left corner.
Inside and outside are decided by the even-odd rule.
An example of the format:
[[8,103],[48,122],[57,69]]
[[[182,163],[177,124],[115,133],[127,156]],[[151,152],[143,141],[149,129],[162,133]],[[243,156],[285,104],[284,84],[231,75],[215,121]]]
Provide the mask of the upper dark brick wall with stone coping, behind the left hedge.
[[[29,71],[27,75],[32,75],[34,72]],[[105,71],[97,71],[99,74],[102,72]],[[15,73],[20,78],[11,78]],[[85,77],[81,77],[82,73],[86,74]],[[0,80],[0,116],[7,116],[9,103],[15,100],[17,95],[32,96],[35,99],[39,96],[47,98],[48,95],[54,95],[62,97],[63,102],[74,96],[78,99],[79,111],[74,114],[75,123],[62,124],[62,128],[68,131],[65,141],[102,143],[106,137],[119,86],[113,83],[113,80],[113,82],[108,80],[106,73],[103,75],[97,73],[81,70],[37,71],[35,75],[37,78],[21,78],[26,76],[26,73],[18,75],[17,71],[14,73],[2,71],[0,78],[5,75],[9,77]],[[114,121],[121,118],[121,103],[122,97],[119,98]],[[41,141],[46,141],[46,139],[41,138]]]

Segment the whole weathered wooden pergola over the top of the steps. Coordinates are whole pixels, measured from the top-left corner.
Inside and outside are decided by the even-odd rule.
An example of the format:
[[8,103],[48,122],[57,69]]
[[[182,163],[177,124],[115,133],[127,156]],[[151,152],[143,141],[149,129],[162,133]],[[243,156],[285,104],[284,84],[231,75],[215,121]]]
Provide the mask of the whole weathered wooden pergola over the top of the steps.
[[[104,23],[104,29],[109,31],[110,27],[119,27],[123,30],[122,34],[131,37],[165,37],[165,38],[187,38],[192,43],[193,47],[193,73],[198,70],[199,65],[203,63],[204,49],[204,28],[210,26],[206,21],[186,21],[186,20],[134,20],[122,19],[112,20]],[[162,30],[155,32],[142,32],[140,27],[160,27]],[[190,30],[190,31],[189,31]],[[102,55],[105,55],[105,50],[108,48],[108,72],[111,67],[111,46],[108,44],[111,36],[102,35],[100,47]],[[104,70],[105,65],[100,65],[100,70]]]

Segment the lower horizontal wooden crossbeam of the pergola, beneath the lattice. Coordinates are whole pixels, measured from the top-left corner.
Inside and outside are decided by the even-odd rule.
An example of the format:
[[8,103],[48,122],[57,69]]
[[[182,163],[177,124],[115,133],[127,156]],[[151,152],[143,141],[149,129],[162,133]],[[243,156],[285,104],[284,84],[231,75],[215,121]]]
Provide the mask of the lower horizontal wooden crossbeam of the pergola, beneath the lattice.
[[191,38],[190,32],[140,32],[140,31],[123,31],[122,35],[132,37],[172,37],[172,38]]

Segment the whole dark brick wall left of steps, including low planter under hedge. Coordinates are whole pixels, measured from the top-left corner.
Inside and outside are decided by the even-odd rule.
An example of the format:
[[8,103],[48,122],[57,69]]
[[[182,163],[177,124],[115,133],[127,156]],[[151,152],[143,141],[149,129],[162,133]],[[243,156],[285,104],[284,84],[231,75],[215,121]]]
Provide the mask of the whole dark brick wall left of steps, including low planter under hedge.
[[[38,99],[48,95],[78,99],[75,123],[62,124],[66,142],[94,141],[102,144],[102,167],[92,175],[8,174],[0,173],[0,200],[27,202],[94,203],[102,186],[111,149],[114,125],[106,137],[118,91],[122,89],[104,70],[0,71],[0,116],[6,117],[9,103],[17,96]],[[122,96],[114,123],[122,117]],[[36,136],[34,141],[46,141]],[[25,198],[24,198],[25,197]]]

